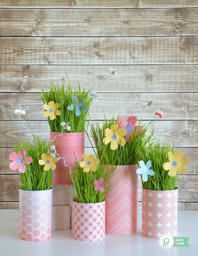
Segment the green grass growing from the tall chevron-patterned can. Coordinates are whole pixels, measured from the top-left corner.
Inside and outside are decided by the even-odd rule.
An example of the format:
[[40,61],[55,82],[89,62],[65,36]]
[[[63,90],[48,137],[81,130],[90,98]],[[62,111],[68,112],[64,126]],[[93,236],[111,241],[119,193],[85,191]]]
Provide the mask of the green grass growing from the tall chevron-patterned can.
[[[116,119],[117,120],[117,119]],[[100,125],[96,124],[96,127],[91,125],[91,135],[88,135],[88,138],[92,144],[91,138],[93,138],[94,145],[92,144],[93,150],[97,156],[98,159],[100,159],[100,162],[102,164],[106,165],[133,165],[136,164],[139,159],[136,154],[136,150],[139,146],[143,145],[145,146],[148,142],[148,140],[153,141],[153,134],[154,131],[149,134],[149,136],[146,135],[146,131],[148,126],[151,124],[144,124],[143,132],[140,136],[137,135],[138,130],[134,131],[131,136],[131,141],[129,143],[126,142],[124,146],[118,145],[118,148],[116,150],[110,149],[110,143],[105,145],[103,143],[103,138],[105,137],[105,129],[110,128],[112,124],[116,124],[116,120],[114,117],[110,120],[103,121],[103,126],[100,127]],[[141,120],[139,121],[139,124],[141,125]],[[95,148],[94,148],[95,147]]]

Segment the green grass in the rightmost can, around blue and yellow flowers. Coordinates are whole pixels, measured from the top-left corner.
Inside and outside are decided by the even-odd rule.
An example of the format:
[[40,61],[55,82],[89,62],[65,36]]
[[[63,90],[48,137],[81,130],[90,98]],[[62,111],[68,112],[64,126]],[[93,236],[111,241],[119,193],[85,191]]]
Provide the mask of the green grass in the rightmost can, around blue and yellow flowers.
[[174,177],[168,175],[168,171],[163,168],[163,163],[169,162],[166,158],[169,151],[175,153],[175,146],[171,148],[170,145],[163,143],[162,147],[159,140],[155,144],[149,144],[148,147],[139,147],[137,150],[138,158],[143,160],[146,164],[147,161],[151,160],[152,164],[150,169],[155,172],[154,176],[148,175],[148,181],[142,180],[142,186],[144,189],[150,190],[174,190],[178,185],[178,172]]

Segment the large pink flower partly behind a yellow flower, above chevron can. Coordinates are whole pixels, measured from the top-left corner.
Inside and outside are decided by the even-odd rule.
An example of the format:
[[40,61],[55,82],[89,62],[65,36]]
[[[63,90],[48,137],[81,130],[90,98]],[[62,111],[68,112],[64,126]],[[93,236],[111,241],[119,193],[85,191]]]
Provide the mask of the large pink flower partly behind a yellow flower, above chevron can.
[[124,117],[118,117],[116,124],[120,124],[120,128],[123,128],[127,131],[126,141],[130,142],[131,134],[133,131],[138,130],[137,135],[140,136],[142,134],[142,127],[140,125],[136,125],[137,117],[134,115],[129,116],[128,120]]

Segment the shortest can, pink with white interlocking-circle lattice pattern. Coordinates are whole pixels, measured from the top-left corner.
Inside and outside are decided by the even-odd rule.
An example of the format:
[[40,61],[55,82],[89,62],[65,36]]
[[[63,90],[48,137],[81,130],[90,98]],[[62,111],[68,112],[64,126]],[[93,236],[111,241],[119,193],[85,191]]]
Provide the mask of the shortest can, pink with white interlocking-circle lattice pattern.
[[105,201],[72,204],[72,236],[80,241],[105,238]]

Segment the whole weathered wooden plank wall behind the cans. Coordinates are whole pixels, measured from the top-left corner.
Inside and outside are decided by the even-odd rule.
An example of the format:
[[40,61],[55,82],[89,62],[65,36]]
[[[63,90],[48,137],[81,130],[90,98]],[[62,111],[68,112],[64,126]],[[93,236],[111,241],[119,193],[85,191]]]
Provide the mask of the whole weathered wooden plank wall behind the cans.
[[[49,81],[100,93],[93,119],[137,115],[146,99],[166,112],[156,136],[190,158],[179,177],[179,209],[198,210],[198,2],[196,0],[4,0],[0,3],[0,162],[30,132],[49,138],[37,95]],[[114,67],[118,77],[107,75]],[[143,123],[155,118],[142,112]],[[152,128],[152,127],[151,127]],[[150,129],[151,129],[150,128]],[[194,128],[196,131],[193,132]],[[85,152],[92,152],[88,139]],[[19,179],[0,166],[0,209],[16,209]],[[68,197],[67,197],[68,199]],[[67,200],[68,201],[68,200]],[[67,202],[68,203],[68,202]],[[54,208],[55,209],[55,208]],[[139,184],[141,209],[141,184]]]

